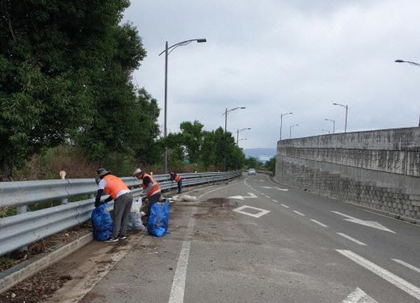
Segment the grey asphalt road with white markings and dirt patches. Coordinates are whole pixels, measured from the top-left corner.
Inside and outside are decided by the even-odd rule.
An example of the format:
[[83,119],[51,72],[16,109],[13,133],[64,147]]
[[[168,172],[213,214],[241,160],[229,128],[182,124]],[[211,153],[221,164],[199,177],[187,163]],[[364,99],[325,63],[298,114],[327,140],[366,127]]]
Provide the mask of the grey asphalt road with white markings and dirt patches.
[[420,302],[416,225],[263,174],[193,195],[82,302]]

